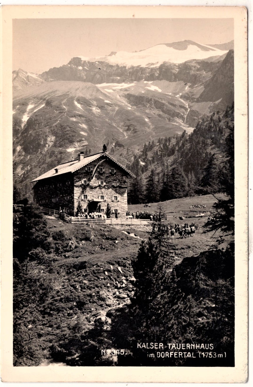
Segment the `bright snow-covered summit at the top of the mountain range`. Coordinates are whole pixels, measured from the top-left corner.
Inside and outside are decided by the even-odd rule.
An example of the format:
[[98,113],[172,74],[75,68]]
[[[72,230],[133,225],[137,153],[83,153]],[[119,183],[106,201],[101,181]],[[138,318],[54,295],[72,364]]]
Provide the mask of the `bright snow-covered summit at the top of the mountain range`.
[[211,56],[224,55],[227,51],[217,47],[195,43],[191,40],[184,40],[181,42],[156,45],[146,50],[133,53],[119,51],[105,57],[92,58],[82,55],[78,57],[84,62],[107,62],[112,65],[126,67],[158,67],[164,62],[182,63],[191,59],[206,59]]

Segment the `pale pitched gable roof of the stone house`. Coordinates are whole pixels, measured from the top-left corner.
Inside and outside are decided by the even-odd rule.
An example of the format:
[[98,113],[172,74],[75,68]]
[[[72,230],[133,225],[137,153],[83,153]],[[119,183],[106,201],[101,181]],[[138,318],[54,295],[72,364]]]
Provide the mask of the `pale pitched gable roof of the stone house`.
[[[73,173],[79,170],[80,168],[83,168],[87,164],[91,163],[91,161],[95,161],[96,159],[99,159],[101,156],[106,156],[109,160],[112,160],[115,164],[117,164],[117,166],[119,166],[122,170],[124,170],[128,175],[135,177],[135,175],[131,171],[127,170],[123,165],[118,163],[114,158],[109,156],[106,152],[100,152],[100,153],[92,154],[91,156],[84,157],[81,161],[78,161],[77,159],[77,160],[69,161],[68,163],[57,165],[54,168],[52,168],[50,171],[47,171],[46,173],[43,173],[43,175],[32,180],[32,182],[37,182],[38,180],[47,179],[49,177],[63,175],[64,173],[68,173],[68,172]],[[58,170],[58,172],[55,171],[56,169]]]

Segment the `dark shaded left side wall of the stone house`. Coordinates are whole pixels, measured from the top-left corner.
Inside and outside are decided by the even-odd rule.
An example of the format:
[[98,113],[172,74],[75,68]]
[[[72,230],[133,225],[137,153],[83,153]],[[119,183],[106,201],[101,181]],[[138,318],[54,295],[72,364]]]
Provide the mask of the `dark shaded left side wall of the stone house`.
[[65,173],[39,180],[33,187],[34,202],[41,207],[55,210],[65,209],[74,214],[74,179],[72,173]]

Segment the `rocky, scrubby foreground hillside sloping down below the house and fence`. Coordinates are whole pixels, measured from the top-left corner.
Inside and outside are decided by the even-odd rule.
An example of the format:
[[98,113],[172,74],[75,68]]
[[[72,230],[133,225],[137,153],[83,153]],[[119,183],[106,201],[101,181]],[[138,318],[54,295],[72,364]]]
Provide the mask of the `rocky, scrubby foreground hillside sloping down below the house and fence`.
[[[166,238],[167,266],[162,271],[166,281],[159,301],[164,305],[155,303],[157,328],[166,328],[165,321],[170,324],[165,334],[159,332],[158,341],[164,338],[166,343],[189,342],[187,330],[196,327],[199,335],[201,330],[209,335],[208,342],[216,338],[214,342],[222,346],[219,350],[227,351],[228,359],[219,360],[219,364],[209,362],[208,366],[232,361],[227,345],[231,346],[233,291],[224,282],[228,277],[232,281],[233,276],[232,257],[224,257],[232,236],[206,234],[201,228],[212,213],[214,200],[208,195],[164,203],[169,223],[181,223],[179,216],[183,215],[199,228],[194,238]],[[205,204],[204,216],[191,208],[192,204]],[[147,351],[136,349],[138,340],[144,341],[141,335],[145,327],[143,316],[134,314],[133,307],[136,281],[131,260],[138,254],[142,240],[148,240],[151,228],[96,224],[90,227],[62,223],[53,217],[43,220],[37,209],[32,214],[34,218],[29,222],[31,211],[24,211],[23,220],[22,214],[18,214],[21,223],[14,227],[14,365],[158,365],[147,359]],[[40,224],[35,233],[34,222],[37,228]],[[29,243],[24,243],[24,238],[29,238]],[[219,297],[215,299],[217,281]],[[196,293],[193,283],[197,284]],[[220,297],[224,292],[229,301],[225,308]],[[131,302],[133,305],[128,308]],[[166,306],[168,302],[170,307]],[[190,311],[189,305],[193,307]],[[155,329],[152,321],[148,325],[150,333]],[[230,338],[219,341],[216,332],[223,336],[228,332]],[[205,342],[206,338],[196,341]],[[102,349],[108,352],[103,354]],[[113,349],[124,350],[124,356],[113,356]],[[201,365],[205,364],[204,361]],[[175,365],[175,360],[171,359],[169,364],[162,361],[160,365]]]

